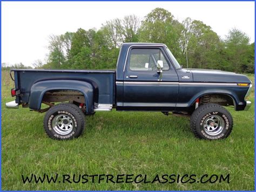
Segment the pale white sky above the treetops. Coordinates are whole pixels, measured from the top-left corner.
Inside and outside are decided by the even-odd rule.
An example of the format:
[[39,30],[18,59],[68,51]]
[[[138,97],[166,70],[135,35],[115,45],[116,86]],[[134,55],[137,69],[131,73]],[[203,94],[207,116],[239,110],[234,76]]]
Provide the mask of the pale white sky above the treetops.
[[2,2],[1,63],[45,63],[50,35],[100,29],[106,20],[126,15],[143,19],[157,7],[179,22],[186,17],[201,20],[221,38],[237,28],[254,42],[254,2]]

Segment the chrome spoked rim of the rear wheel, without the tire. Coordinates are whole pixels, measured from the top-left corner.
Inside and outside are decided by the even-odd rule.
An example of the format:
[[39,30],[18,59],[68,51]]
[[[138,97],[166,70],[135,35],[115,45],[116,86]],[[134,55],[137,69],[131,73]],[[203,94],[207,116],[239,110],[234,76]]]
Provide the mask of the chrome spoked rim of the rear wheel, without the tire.
[[69,134],[73,130],[74,122],[67,114],[59,114],[52,120],[52,128],[60,135]]

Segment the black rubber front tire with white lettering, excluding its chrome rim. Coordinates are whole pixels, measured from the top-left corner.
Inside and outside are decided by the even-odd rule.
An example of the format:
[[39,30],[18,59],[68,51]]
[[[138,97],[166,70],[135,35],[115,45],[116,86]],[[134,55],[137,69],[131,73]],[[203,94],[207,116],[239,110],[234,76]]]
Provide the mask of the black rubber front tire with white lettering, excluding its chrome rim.
[[[218,135],[207,134],[203,127],[204,120],[211,115],[218,115],[221,119],[224,120],[224,128]],[[232,117],[230,113],[228,113],[224,108],[218,108],[218,107],[207,108],[206,110],[202,111],[198,115],[198,118],[196,121],[196,131],[200,135],[200,137],[204,139],[210,139],[210,140],[224,139],[232,131],[232,124],[233,124]]]

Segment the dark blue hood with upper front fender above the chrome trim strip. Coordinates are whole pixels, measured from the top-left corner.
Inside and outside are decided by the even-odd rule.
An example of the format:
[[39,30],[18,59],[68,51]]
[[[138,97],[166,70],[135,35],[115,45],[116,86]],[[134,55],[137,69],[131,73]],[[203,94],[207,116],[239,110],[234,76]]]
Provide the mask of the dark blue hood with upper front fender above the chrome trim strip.
[[246,76],[233,72],[201,70],[196,68],[188,68],[187,70],[193,74],[193,81],[197,82],[251,83]]

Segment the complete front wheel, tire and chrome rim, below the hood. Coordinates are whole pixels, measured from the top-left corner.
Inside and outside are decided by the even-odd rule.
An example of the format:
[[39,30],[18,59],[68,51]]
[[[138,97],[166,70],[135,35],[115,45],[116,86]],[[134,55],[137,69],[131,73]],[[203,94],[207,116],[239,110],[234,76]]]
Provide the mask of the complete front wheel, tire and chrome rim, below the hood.
[[233,118],[224,107],[218,104],[205,104],[192,113],[190,128],[200,139],[225,139],[232,132]]

